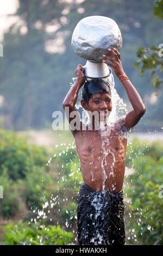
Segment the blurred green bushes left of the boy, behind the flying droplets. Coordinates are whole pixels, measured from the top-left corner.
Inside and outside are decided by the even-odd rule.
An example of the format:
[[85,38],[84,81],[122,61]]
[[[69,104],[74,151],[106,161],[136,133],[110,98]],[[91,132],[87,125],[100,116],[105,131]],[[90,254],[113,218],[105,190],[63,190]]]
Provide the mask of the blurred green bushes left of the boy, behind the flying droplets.
[[[59,220],[62,225],[66,221],[74,224],[77,194],[82,183],[74,145],[58,148],[53,153],[55,157],[48,161],[49,153],[45,149],[28,144],[16,133],[1,131],[0,134],[0,160],[3,162],[0,185],[4,190],[4,198],[0,201],[0,216],[8,219],[20,216],[23,212],[24,218],[30,220],[37,217],[36,209],[41,210],[43,204],[48,202],[49,207],[46,210],[51,210],[52,213],[43,222],[52,218],[54,222]],[[15,149],[14,153],[12,149]],[[6,153],[4,156],[4,151],[10,154]],[[27,162],[30,164],[26,164]],[[54,209],[50,208],[52,197],[57,197],[57,207]]]

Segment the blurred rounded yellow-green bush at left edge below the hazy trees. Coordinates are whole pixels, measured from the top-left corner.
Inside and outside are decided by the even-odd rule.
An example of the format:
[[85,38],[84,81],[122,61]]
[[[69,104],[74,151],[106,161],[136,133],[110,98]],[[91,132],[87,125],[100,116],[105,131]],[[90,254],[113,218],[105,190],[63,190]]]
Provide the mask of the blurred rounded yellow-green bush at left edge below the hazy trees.
[[47,151],[44,148],[29,145],[24,138],[15,132],[0,130],[0,175],[7,169],[12,180],[25,179],[34,166],[46,166]]

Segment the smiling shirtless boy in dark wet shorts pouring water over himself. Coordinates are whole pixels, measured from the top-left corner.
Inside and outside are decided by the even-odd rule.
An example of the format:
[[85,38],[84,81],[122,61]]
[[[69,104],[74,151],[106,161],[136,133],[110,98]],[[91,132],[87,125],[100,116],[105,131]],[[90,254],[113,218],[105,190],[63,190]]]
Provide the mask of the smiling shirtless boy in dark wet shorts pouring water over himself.
[[[79,245],[124,245],[122,186],[127,138],[123,136],[123,132],[134,127],[146,111],[139,93],[123,70],[120,53],[116,48],[108,49],[108,54],[103,56],[103,62],[111,66],[122,82],[133,110],[125,118],[116,121],[105,137],[95,129],[95,118],[92,120],[92,130],[83,129],[76,112],[80,130],[72,129],[72,133],[84,181],[79,192],[77,214]],[[109,84],[102,79],[85,83],[83,72],[83,66],[78,64],[77,80],[63,102],[63,107],[69,108],[69,123],[73,120],[71,113],[76,111],[74,106],[83,84],[82,107],[86,111],[96,111],[106,121],[107,114],[112,110]]]

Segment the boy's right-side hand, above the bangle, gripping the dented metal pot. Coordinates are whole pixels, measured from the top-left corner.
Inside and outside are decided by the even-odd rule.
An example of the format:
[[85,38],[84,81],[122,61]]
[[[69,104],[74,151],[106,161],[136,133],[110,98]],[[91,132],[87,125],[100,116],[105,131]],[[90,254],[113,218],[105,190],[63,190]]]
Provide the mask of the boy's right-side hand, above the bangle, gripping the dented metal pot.
[[111,68],[114,70],[116,76],[119,78],[120,76],[126,76],[122,62],[120,60],[120,53],[117,51],[116,48],[109,48],[108,54],[103,54],[103,59],[108,59],[110,62],[106,62],[106,60],[103,60],[104,63],[111,66]]

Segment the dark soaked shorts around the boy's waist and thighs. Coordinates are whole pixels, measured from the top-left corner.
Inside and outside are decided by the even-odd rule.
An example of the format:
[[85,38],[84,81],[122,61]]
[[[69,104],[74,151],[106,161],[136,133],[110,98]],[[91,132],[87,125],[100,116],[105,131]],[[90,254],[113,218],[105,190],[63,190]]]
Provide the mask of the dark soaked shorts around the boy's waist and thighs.
[[123,190],[112,194],[83,183],[77,217],[79,245],[124,245]]

